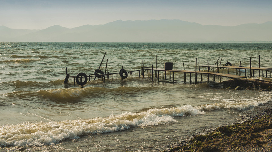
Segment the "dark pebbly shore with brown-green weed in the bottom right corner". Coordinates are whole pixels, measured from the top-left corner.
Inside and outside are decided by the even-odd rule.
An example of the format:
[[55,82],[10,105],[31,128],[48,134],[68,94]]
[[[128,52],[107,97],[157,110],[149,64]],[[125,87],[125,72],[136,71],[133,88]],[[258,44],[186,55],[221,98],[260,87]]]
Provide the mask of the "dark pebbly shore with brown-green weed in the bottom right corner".
[[242,123],[218,127],[207,135],[193,135],[164,152],[272,151],[272,108],[246,117]]

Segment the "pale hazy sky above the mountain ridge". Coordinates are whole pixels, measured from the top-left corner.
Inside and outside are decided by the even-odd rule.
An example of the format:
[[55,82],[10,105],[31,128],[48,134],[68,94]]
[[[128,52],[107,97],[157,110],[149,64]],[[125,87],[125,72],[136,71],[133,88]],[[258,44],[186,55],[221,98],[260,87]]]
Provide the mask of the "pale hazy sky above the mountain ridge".
[[0,26],[67,28],[115,20],[179,19],[236,26],[272,21],[272,0],[0,0]]

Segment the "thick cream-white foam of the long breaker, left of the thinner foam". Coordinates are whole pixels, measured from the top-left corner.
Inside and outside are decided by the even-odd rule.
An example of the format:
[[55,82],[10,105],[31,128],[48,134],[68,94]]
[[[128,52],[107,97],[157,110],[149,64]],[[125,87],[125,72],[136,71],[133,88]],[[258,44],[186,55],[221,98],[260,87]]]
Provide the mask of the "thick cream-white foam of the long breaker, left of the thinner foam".
[[80,135],[115,132],[134,126],[157,125],[175,122],[173,116],[204,114],[190,105],[178,108],[149,109],[140,113],[125,112],[105,118],[87,120],[65,120],[49,123],[22,123],[0,128],[0,146],[41,146],[57,144],[66,138],[79,138]]

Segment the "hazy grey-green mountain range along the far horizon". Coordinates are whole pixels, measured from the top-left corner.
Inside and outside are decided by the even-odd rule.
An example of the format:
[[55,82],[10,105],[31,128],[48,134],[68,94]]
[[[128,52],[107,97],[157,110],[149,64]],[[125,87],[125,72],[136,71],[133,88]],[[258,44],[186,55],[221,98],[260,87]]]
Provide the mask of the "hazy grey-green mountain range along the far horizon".
[[104,25],[42,30],[0,26],[0,41],[23,42],[227,42],[270,41],[272,22],[238,26],[201,25],[182,20],[117,20]]

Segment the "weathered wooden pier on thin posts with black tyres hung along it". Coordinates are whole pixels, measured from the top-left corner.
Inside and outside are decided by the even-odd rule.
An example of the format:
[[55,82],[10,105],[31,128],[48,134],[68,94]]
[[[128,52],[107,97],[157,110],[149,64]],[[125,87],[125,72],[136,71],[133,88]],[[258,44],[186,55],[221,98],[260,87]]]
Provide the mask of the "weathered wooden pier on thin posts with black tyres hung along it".
[[[105,52],[106,54],[106,52]],[[105,57],[105,55],[104,55]],[[103,57],[103,59],[104,59]],[[103,62],[102,59],[102,62]],[[219,57],[220,59],[220,57]],[[218,60],[219,60],[218,59]],[[218,64],[218,60],[216,61],[216,63]],[[222,59],[221,59],[222,61]],[[207,62],[208,65],[199,65],[198,62],[198,70],[197,70],[197,58],[196,58],[196,65],[195,65],[195,70],[194,71],[189,71],[189,70],[185,70],[184,67],[184,63],[183,63],[183,70],[173,70],[173,63],[172,62],[166,62],[164,68],[157,68],[157,56],[156,56],[156,67],[153,67],[153,65],[151,67],[144,67],[143,61],[141,62],[141,68],[139,70],[133,70],[133,71],[126,71],[123,66],[120,69],[120,71],[117,73],[109,73],[107,71],[107,64],[108,64],[108,60],[106,62],[106,68],[105,68],[105,73],[103,71],[100,70],[100,66],[102,65],[102,62],[99,66],[98,69],[96,69],[94,71],[94,74],[85,74],[83,72],[80,72],[79,74],[77,74],[76,76],[70,76],[70,74],[67,73],[67,68],[66,68],[66,78],[64,80],[64,83],[68,83],[68,79],[69,78],[73,78],[74,81],[74,85],[79,84],[81,87],[83,87],[83,85],[85,85],[88,81],[93,81],[92,78],[100,78],[102,81],[105,81],[106,78],[109,79],[110,75],[114,75],[114,74],[119,74],[121,79],[126,79],[128,77],[128,73],[131,75],[132,78],[132,73],[133,72],[137,72],[139,78],[144,78],[145,77],[145,72],[147,72],[147,77],[152,78],[152,81],[154,81],[154,79],[156,79],[155,81],[158,82],[170,82],[170,83],[179,83],[179,82],[183,82],[186,83],[187,81],[187,76],[189,74],[189,83],[192,84],[192,75],[195,76],[195,83],[203,83],[206,81],[203,81],[203,76],[207,76],[207,82],[210,81],[210,77],[213,78],[213,81],[215,81],[215,76],[217,78],[219,78],[219,82],[221,82],[221,77],[223,78],[230,78],[232,80],[237,80],[237,79],[244,79],[244,80],[250,80],[247,78],[251,78],[252,74],[254,77],[254,71],[259,71],[259,77],[261,75],[262,71],[262,77],[264,77],[264,71],[266,72],[266,77],[267,77],[267,73],[270,73],[270,77],[271,77],[271,73],[272,73],[272,68],[260,68],[260,56],[259,56],[259,68],[256,67],[242,67],[242,66],[222,66],[221,65],[221,61],[219,65],[209,65],[209,61]],[[250,58],[250,63],[251,63],[251,58]],[[229,64],[231,65],[231,63],[227,62],[226,65]],[[241,63],[240,63],[241,64]],[[251,65],[251,64],[250,64]],[[203,67],[203,71],[200,71],[200,68]],[[205,68],[207,69],[205,71]],[[235,74],[230,74],[230,69],[236,69],[236,75]],[[241,76],[241,69],[244,70],[245,74],[244,76]],[[213,71],[211,71],[213,70]],[[238,74],[238,70],[239,70],[239,74]],[[247,72],[249,70],[249,72]],[[232,71],[233,72],[233,71]],[[176,73],[183,73],[184,76],[182,76],[182,74],[178,74],[178,76],[183,77],[183,81],[182,79],[176,79]],[[248,73],[248,75],[247,75]],[[250,73],[250,76],[249,76]],[[169,75],[169,77],[168,77]],[[200,77],[200,81],[198,81],[198,76]],[[113,77],[113,76],[112,76]],[[167,79],[168,77],[168,79]],[[84,81],[83,81],[84,79]],[[113,78],[112,78],[113,79]],[[250,80],[252,81],[252,79]],[[256,81],[258,81],[256,79]],[[272,81],[259,81],[260,83],[263,82],[267,82],[267,83],[272,83]]]

